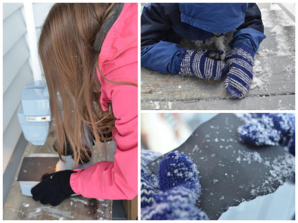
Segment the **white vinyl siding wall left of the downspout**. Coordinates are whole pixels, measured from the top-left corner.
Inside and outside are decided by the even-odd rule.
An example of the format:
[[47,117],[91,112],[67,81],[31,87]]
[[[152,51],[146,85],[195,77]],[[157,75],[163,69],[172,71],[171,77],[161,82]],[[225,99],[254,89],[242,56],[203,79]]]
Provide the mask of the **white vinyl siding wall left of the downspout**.
[[23,87],[33,79],[22,3],[3,3],[3,171],[22,133],[17,118]]

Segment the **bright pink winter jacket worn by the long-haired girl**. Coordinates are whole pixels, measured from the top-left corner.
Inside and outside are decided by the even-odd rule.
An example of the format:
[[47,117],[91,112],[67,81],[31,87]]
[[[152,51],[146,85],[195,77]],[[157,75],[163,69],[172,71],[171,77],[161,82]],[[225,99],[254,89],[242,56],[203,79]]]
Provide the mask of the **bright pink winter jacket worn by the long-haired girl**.
[[[137,3],[124,3],[103,42],[99,67],[109,80],[138,83]],[[83,197],[130,200],[138,194],[138,87],[111,83],[98,71],[97,76],[102,85],[101,107],[107,111],[111,102],[116,117],[115,159],[75,169],[70,184]]]

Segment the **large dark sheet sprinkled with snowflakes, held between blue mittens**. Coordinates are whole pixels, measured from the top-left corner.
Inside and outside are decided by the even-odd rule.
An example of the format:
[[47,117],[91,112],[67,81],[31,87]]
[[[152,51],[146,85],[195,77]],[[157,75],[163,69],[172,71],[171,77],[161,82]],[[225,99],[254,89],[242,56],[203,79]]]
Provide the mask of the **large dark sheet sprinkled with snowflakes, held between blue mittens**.
[[[219,114],[173,150],[197,165],[202,185],[197,204],[210,220],[217,220],[228,207],[274,192],[295,172],[295,157],[282,147],[239,142],[237,128],[243,123],[234,114]],[[162,157],[149,164],[154,173]]]

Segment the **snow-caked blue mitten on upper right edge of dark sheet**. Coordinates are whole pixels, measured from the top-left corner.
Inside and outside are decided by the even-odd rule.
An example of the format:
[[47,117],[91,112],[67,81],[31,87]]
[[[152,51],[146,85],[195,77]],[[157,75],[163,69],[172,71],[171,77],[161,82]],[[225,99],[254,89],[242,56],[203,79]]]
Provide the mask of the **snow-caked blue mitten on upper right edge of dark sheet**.
[[295,114],[253,113],[238,128],[240,139],[254,145],[280,145],[295,155]]

